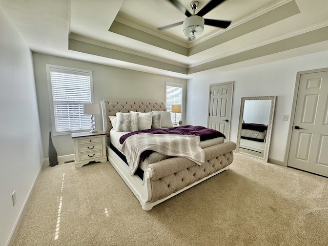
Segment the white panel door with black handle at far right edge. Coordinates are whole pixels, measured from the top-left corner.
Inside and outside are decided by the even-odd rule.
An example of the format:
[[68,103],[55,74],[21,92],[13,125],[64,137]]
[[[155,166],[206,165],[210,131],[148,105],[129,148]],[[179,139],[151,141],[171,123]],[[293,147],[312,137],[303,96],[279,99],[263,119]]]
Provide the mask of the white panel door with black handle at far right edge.
[[302,74],[288,166],[328,177],[328,72]]

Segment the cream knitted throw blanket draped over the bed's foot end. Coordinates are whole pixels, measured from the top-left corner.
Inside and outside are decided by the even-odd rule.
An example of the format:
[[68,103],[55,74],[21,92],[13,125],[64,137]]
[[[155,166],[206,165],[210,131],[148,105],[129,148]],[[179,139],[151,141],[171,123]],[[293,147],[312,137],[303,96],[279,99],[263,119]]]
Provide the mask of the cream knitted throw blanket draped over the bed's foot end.
[[153,150],[168,156],[186,157],[198,165],[205,161],[204,151],[199,145],[199,136],[136,134],[129,136],[119,150],[127,157],[131,175],[139,166],[140,155]]

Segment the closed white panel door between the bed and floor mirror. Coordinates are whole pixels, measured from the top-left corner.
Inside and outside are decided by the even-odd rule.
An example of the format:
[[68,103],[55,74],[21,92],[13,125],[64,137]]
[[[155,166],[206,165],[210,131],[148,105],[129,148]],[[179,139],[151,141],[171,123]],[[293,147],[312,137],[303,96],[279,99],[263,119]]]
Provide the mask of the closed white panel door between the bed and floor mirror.
[[233,82],[210,85],[208,128],[223,133],[228,141],[230,136],[233,85]]

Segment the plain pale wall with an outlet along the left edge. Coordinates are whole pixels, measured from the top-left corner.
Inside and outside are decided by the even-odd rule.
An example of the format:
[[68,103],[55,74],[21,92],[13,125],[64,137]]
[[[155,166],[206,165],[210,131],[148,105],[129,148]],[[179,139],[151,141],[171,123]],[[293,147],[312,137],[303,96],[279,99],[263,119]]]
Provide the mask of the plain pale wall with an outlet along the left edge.
[[[44,160],[32,54],[0,7],[0,245],[6,245]],[[16,191],[13,206],[11,194]]]

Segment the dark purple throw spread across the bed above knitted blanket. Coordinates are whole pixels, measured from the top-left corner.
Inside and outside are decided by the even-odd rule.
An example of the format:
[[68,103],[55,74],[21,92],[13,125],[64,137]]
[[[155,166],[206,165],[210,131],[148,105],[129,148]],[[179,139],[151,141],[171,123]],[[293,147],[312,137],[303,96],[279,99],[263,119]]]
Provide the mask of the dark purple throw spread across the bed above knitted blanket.
[[159,128],[159,129],[147,129],[142,131],[135,131],[125,134],[120,137],[119,143],[123,144],[125,139],[129,136],[139,134],[139,133],[153,133],[153,134],[175,134],[175,135],[194,135],[199,136],[200,141],[213,139],[216,137],[223,137],[226,138],[221,132],[216,131],[214,129],[209,129],[202,126],[180,126],[180,127],[171,127],[171,128]]

